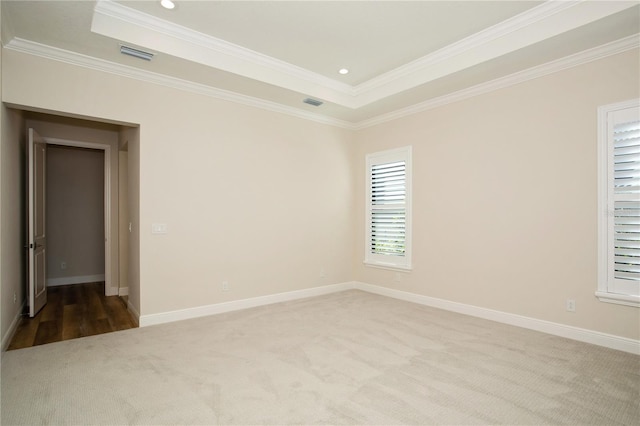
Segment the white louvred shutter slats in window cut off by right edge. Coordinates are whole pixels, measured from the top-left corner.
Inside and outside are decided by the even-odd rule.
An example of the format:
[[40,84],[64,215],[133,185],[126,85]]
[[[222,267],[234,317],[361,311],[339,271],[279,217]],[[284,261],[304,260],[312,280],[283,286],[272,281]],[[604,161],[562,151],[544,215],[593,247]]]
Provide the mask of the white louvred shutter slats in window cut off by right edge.
[[640,281],[640,119],[613,126],[614,279]]

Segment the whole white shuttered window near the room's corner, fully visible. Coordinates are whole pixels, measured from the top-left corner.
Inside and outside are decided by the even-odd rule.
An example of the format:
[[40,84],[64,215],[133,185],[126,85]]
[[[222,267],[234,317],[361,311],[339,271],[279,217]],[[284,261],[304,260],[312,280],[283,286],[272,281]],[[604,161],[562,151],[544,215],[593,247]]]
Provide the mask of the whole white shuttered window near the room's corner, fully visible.
[[411,147],[367,155],[367,265],[411,269]]

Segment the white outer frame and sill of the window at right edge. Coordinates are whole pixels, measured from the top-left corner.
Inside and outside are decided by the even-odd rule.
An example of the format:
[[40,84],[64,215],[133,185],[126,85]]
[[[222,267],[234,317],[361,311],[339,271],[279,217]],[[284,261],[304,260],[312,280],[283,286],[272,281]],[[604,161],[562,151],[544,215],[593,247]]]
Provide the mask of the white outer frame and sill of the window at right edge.
[[[615,115],[640,108],[640,99],[632,99],[598,108],[598,289],[601,302],[640,307],[640,295],[616,291],[612,258],[614,253],[611,226],[614,215],[613,126]],[[639,283],[640,285],[640,283]]]

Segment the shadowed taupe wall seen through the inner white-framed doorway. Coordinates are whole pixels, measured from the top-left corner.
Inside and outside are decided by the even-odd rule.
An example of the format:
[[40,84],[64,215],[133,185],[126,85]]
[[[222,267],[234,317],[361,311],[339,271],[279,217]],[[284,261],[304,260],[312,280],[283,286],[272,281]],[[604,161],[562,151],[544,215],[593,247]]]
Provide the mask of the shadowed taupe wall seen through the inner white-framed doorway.
[[47,285],[101,280],[104,151],[49,145],[46,174]]

